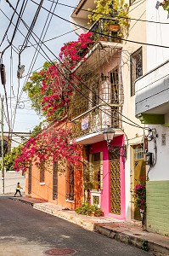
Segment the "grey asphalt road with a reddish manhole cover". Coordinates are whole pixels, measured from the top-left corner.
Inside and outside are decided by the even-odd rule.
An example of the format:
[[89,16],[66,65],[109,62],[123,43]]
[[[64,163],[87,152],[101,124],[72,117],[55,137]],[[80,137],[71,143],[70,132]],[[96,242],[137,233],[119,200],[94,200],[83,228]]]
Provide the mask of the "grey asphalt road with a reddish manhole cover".
[[[56,248],[54,253],[46,254]],[[63,249],[70,249],[63,251]],[[64,253],[64,254],[63,254]],[[136,247],[0,196],[0,256],[149,256]]]

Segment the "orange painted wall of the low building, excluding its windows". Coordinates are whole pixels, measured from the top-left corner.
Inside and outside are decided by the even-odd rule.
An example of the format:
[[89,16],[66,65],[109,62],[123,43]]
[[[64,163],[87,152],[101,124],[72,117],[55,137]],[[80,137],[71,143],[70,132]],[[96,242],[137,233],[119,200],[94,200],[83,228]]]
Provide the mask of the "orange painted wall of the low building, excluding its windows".
[[[31,197],[58,204],[61,207],[75,209],[83,200],[82,166],[74,171],[74,203],[66,201],[66,173],[58,173],[58,199],[53,200],[53,172],[45,171],[45,183],[40,182],[40,171],[37,166],[31,170]],[[26,173],[25,195],[28,195],[28,172]]]

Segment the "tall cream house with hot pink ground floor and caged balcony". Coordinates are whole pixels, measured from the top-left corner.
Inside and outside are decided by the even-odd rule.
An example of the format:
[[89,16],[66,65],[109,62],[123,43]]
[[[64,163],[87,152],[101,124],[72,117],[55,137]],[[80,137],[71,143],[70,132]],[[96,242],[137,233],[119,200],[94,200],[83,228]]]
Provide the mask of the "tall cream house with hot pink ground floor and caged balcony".
[[[134,6],[128,7],[129,16],[142,14],[144,19],[145,4]],[[119,22],[120,29],[115,28],[118,19],[102,15],[90,26],[87,10],[96,8],[94,1],[81,0],[70,16],[77,34],[93,32],[97,42],[73,70],[82,79],[71,109],[74,138],[87,145],[91,203],[98,204],[105,216],[140,220],[138,208],[131,203],[131,189],[140,177],[146,177],[145,125],[134,112],[135,79],[146,72],[146,45],[139,44],[146,42],[145,23],[131,20],[124,32],[126,25]],[[105,141],[108,127],[114,134],[110,142]]]

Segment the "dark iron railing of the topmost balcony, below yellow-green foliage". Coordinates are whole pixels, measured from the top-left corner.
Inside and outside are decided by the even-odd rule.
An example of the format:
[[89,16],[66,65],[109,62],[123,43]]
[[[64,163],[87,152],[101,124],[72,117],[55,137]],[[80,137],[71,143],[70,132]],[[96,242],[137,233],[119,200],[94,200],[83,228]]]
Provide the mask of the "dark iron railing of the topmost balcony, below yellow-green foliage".
[[[110,30],[110,25],[115,23],[115,19],[102,18],[93,23],[89,32],[93,32],[92,39],[94,41],[109,41],[115,43],[121,43],[121,29],[117,32]],[[116,24],[118,26],[118,24]]]

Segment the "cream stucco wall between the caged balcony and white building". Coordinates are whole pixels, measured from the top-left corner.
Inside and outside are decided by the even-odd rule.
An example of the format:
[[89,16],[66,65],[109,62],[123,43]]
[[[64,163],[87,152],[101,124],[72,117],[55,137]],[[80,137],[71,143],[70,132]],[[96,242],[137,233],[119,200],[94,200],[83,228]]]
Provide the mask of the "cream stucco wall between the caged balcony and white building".
[[[137,6],[137,8],[136,8]],[[129,9],[131,18],[137,20],[130,21],[129,36],[127,39],[146,43],[146,22],[139,20],[146,20],[146,3],[139,3],[138,0],[134,1]],[[125,161],[125,193],[126,193],[126,216],[127,221],[131,220],[131,176],[133,175],[133,157],[132,145],[143,143],[144,130],[137,127],[136,124],[144,127],[135,117],[135,96],[131,96],[131,63],[130,55],[137,49],[142,47],[143,52],[143,73],[147,72],[147,46],[142,44],[133,44],[132,42],[123,42],[122,57],[122,79],[124,86],[124,107],[123,115],[127,119],[122,118],[123,128],[125,131],[125,143],[127,144],[127,159]],[[132,123],[132,120],[134,123]]]

